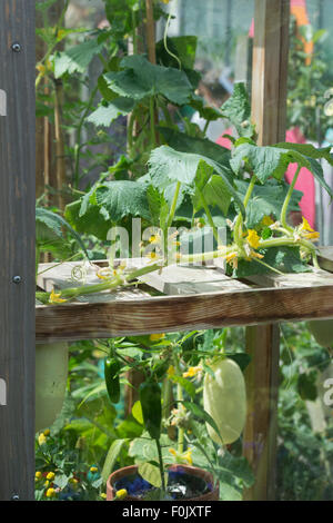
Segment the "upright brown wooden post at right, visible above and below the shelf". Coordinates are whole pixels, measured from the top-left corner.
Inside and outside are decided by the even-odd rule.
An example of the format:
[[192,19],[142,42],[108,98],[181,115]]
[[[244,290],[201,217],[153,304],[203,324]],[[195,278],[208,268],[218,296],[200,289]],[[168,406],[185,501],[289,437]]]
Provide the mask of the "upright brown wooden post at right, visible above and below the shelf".
[[[285,139],[290,0],[255,0],[252,119],[259,145]],[[246,328],[252,357],[246,373],[249,397],[244,455],[255,473],[246,500],[273,500],[279,389],[279,325]]]

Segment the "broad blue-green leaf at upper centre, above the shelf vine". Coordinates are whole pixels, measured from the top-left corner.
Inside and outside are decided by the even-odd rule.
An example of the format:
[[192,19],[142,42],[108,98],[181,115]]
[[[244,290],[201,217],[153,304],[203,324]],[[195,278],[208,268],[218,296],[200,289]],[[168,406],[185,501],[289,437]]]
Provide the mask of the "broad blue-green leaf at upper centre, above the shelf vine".
[[150,63],[143,56],[122,59],[119,72],[104,76],[109,87],[119,96],[142,100],[162,95],[179,106],[186,103],[193,88],[183,71]]

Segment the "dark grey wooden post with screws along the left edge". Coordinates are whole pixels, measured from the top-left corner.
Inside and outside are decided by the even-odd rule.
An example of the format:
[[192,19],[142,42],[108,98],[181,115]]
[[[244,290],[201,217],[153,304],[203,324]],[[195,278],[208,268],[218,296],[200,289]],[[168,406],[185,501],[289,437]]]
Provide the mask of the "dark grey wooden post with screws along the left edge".
[[34,1],[0,2],[0,500],[34,490]]

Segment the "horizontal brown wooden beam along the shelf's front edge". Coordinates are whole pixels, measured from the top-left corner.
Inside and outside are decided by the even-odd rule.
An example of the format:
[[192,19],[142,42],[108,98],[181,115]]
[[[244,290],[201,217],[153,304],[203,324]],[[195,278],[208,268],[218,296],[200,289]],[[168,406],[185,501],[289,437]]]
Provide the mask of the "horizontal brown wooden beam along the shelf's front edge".
[[[114,296],[108,303],[38,306],[37,339],[93,339],[330,317],[332,284],[131,299]],[[270,355],[268,346],[260,357],[270,359]]]

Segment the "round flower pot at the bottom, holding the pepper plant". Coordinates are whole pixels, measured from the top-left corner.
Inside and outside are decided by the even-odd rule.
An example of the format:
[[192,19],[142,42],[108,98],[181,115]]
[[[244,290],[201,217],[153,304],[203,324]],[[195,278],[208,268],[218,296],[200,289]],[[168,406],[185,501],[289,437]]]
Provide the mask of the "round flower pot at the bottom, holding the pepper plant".
[[[170,501],[219,500],[219,490],[213,486],[213,477],[208,472],[188,465],[172,465],[168,473],[167,494]],[[157,490],[138,474],[137,466],[125,467],[110,476],[108,500],[114,499],[115,492],[122,489],[128,492],[124,501],[145,501]]]

